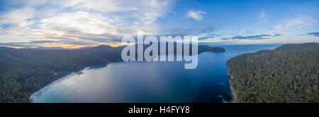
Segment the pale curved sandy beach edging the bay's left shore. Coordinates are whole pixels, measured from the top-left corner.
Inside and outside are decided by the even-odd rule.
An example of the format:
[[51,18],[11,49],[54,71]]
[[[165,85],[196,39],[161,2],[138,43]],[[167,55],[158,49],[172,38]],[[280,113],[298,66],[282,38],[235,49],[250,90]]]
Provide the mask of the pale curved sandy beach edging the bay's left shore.
[[35,91],[33,94],[30,95],[30,97],[29,97],[29,103],[33,103],[33,100],[36,98],[36,96],[37,96],[40,92],[49,89],[53,84],[55,84],[55,83],[57,83],[57,82],[60,82],[60,81],[62,81],[63,79],[67,79],[67,78],[71,77],[71,76],[74,75],[74,74],[81,74],[84,70],[90,69],[90,68],[91,68],[91,67],[85,67],[84,69],[80,70],[79,72],[71,72],[71,74],[68,74],[68,75],[66,75],[65,77],[61,77],[61,78],[55,80],[54,82],[51,82],[51,83],[48,84],[47,86],[41,88],[40,90]]

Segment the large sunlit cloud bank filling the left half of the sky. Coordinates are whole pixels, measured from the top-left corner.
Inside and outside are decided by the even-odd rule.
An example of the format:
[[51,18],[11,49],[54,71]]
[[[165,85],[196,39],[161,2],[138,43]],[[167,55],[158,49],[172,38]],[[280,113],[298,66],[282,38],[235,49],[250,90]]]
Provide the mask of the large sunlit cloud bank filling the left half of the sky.
[[[11,44],[14,43],[10,42],[13,38],[50,40],[51,45],[69,45],[67,48],[72,48],[77,42],[90,43],[90,45],[119,44],[123,36],[136,35],[137,30],[143,30],[145,35],[157,34],[155,21],[169,12],[173,2],[171,0],[6,1],[6,4],[16,7],[0,14],[0,39]],[[38,43],[33,45],[36,46]]]

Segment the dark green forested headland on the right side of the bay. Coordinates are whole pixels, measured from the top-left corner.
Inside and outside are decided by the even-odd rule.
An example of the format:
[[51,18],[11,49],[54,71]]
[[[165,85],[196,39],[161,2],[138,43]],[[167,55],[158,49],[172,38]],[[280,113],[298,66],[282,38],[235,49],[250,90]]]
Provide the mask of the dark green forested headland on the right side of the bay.
[[226,64],[237,102],[319,102],[319,44],[286,44]]

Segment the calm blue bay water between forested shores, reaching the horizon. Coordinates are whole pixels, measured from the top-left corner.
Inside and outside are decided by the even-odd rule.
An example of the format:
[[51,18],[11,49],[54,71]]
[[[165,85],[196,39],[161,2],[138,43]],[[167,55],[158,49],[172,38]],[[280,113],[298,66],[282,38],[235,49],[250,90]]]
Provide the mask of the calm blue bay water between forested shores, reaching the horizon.
[[196,69],[184,62],[112,62],[84,69],[37,91],[33,102],[199,102],[230,101],[225,62],[231,57],[279,45],[223,45],[226,52],[203,52]]

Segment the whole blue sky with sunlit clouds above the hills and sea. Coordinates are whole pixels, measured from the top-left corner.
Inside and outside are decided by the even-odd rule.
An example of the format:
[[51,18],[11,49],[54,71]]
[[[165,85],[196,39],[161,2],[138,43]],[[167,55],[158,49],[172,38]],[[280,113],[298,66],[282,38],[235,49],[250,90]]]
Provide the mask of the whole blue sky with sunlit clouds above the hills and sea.
[[0,46],[117,46],[138,30],[206,45],[319,43],[318,20],[318,0],[0,0]]

